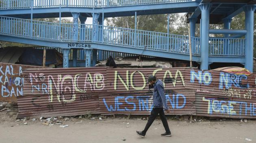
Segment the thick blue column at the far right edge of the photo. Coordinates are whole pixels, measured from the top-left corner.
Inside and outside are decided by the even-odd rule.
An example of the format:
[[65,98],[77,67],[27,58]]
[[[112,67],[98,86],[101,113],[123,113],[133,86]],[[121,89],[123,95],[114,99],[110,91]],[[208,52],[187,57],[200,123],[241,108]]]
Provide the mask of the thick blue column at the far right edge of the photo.
[[254,40],[254,11],[255,5],[247,5],[245,11],[245,68],[253,71],[253,40]]

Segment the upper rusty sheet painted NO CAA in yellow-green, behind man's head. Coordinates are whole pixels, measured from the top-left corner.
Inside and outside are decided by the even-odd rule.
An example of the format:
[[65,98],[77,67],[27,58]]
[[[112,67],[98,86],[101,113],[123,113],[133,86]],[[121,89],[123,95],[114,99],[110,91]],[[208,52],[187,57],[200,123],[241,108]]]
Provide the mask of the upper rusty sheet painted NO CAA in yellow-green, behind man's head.
[[[140,69],[108,69],[107,91],[117,93],[147,92],[148,76],[155,75],[165,81],[166,90],[180,90],[185,88],[185,79],[189,78],[190,68],[140,68]],[[170,82],[170,78],[175,78]],[[189,81],[189,79],[187,79]]]

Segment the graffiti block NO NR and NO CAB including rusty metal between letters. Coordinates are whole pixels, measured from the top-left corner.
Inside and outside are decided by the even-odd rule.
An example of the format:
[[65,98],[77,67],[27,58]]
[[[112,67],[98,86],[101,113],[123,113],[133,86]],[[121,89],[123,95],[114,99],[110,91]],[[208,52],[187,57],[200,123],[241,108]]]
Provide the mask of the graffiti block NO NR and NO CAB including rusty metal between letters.
[[[56,98],[59,103],[73,102],[77,99],[77,94],[84,96],[88,91],[103,90],[105,87],[103,74],[89,72],[54,76],[44,73],[29,73],[26,80],[29,81],[31,94],[48,95],[49,102],[53,102],[53,98]],[[67,99],[66,95],[71,95],[71,98]],[[80,97],[80,99],[82,98],[84,97]]]

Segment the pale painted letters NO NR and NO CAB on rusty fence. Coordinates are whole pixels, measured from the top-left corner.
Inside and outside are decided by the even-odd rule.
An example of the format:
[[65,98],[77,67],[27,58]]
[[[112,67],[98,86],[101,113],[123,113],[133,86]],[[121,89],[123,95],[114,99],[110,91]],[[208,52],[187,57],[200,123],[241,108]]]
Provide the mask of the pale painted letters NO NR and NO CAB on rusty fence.
[[[40,75],[40,78],[38,78],[39,75]],[[35,74],[30,73],[30,84],[32,87],[32,92],[34,91],[33,88],[36,88],[37,91],[40,91],[39,84],[37,84],[37,86],[33,85],[33,80],[35,80],[35,82],[39,82],[38,79],[40,79],[41,82],[44,82],[44,80],[46,79],[43,73],[40,73],[39,75],[37,75],[37,73]],[[72,102],[76,100],[76,92],[86,93],[87,88],[89,86],[91,90],[103,90],[105,87],[104,76],[102,74],[95,73],[93,76],[91,76],[90,73],[87,73],[85,75],[85,79],[83,80],[84,81],[83,88],[81,89],[78,86],[78,83],[80,83],[80,81],[78,81],[80,76],[82,76],[82,74],[76,74],[74,75],[74,77],[71,75],[62,76],[61,74],[59,74],[58,79],[54,80],[53,76],[49,75],[47,79],[48,84],[42,84],[41,90],[43,93],[45,92],[49,94],[49,102],[52,102],[53,93],[54,93],[53,88],[55,88],[57,99],[59,103],[61,103],[61,95],[62,95],[63,102]],[[71,93],[72,99],[69,99],[69,100],[65,99],[65,95],[64,95],[65,92]]]

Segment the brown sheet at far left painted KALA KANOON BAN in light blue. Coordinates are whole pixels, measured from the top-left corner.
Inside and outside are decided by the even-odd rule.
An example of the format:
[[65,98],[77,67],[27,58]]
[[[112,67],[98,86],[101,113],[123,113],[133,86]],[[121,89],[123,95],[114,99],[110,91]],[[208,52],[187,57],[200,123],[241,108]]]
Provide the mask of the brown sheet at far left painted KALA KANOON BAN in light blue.
[[23,95],[22,71],[27,68],[42,68],[31,65],[0,63],[0,101],[17,102]]

